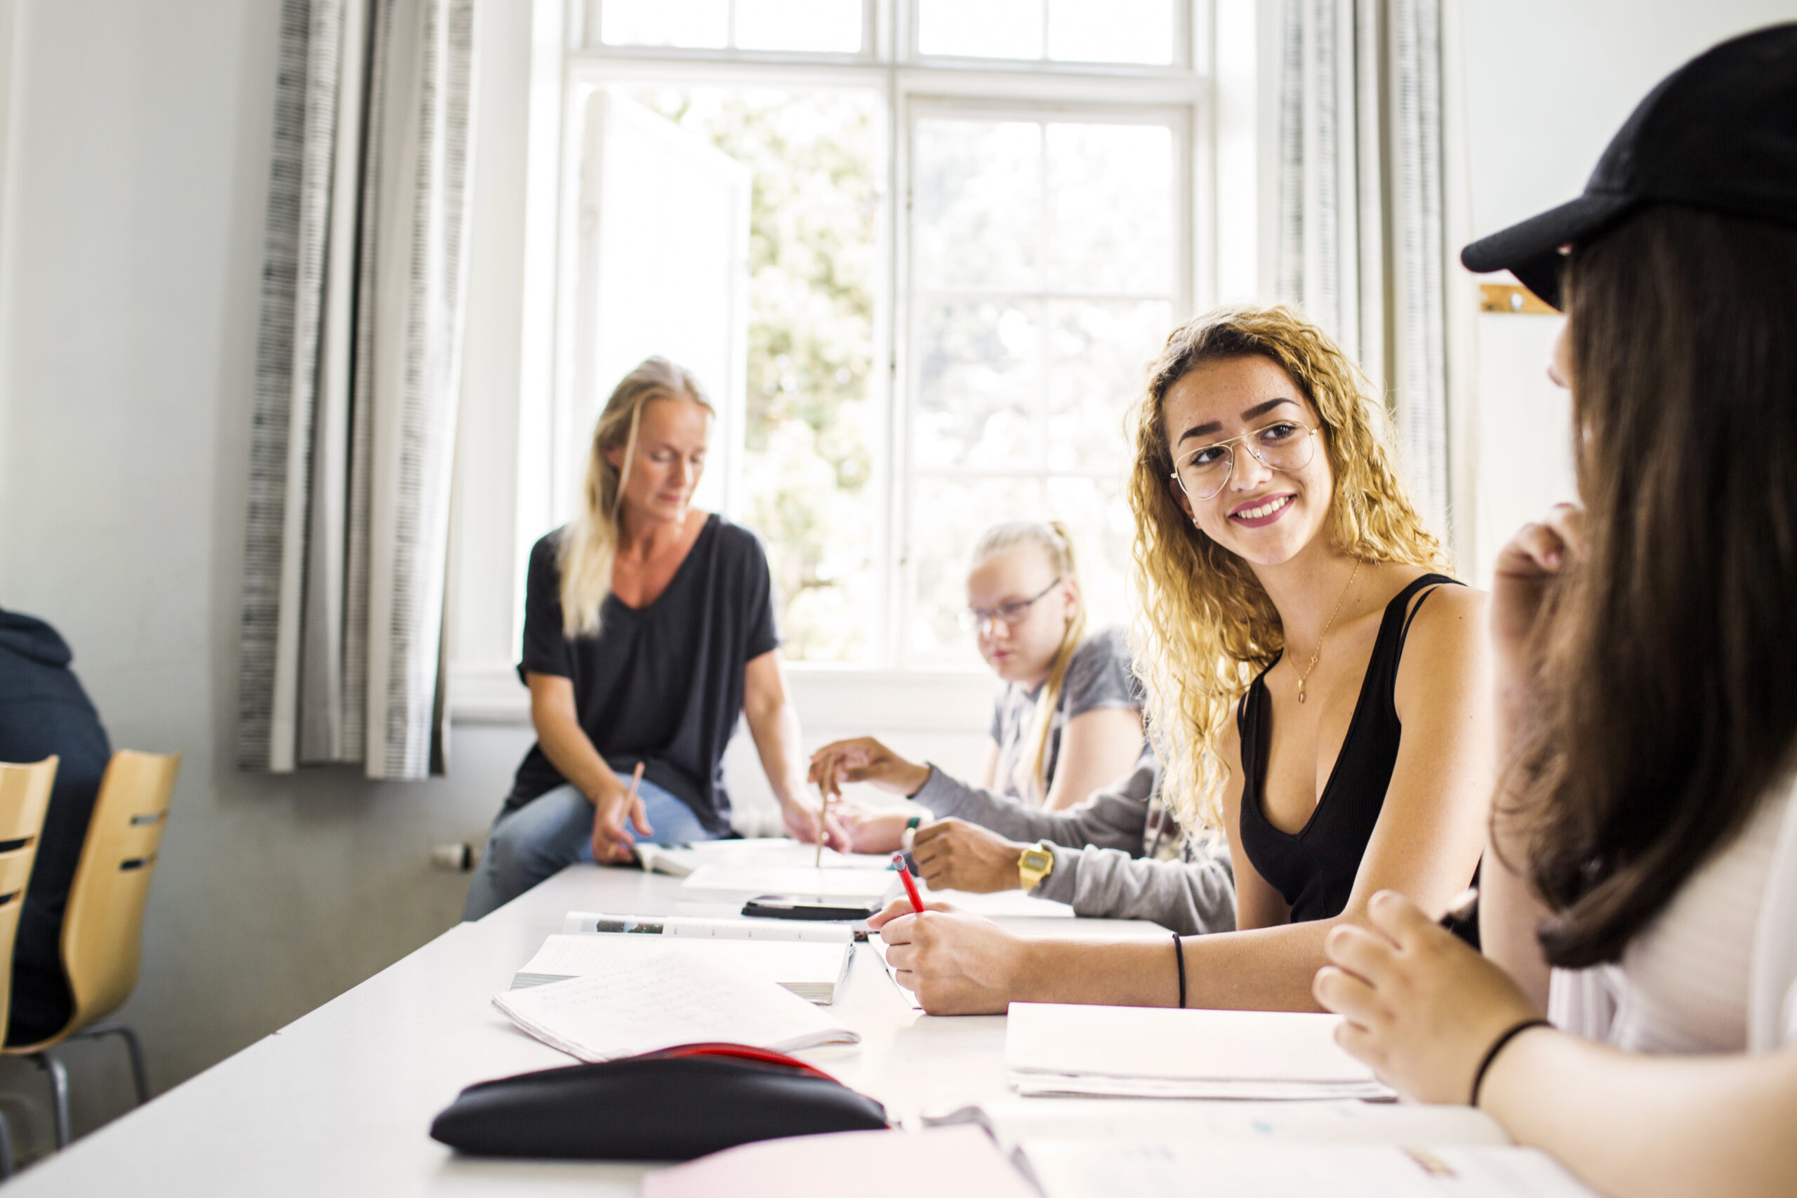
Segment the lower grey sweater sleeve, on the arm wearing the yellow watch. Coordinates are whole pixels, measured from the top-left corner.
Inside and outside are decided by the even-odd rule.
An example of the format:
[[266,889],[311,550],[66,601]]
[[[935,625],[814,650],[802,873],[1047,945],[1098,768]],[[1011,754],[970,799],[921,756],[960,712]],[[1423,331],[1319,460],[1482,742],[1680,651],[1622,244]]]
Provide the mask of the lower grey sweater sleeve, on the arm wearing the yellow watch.
[[1150,920],[1181,936],[1235,930],[1235,873],[1224,846],[1199,851],[1193,860],[1057,848],[1053,871],[1030,893],[1071,903],[1075,914]]

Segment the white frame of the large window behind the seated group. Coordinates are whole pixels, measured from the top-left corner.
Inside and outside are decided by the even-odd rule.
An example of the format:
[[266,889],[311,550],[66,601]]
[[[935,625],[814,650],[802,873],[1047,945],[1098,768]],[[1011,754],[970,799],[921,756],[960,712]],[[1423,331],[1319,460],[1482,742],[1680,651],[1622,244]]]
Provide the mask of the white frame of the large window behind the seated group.
[[[573,361],[582,332],[577,327],[579,185],[584,119],[595,90],[613,86],[757,86],[872,90],[884,104],[884,178],[877,216],[881,275],[875,282],[873,363],[868,401],[873,426],[884,433],[873,445],[870,490],[875,503],[873,571],[879,612],[868,659],[859,663],[789,661],[794,672],[832,675],[978,674],[974,665],[906,661],[906,620],[915,602],[911,544],[911,377],[915,356],[911,316],[916,300],[909,246],[913,129],[920,115],[1015,113],[1028,120],[1057,115],[1118,124],[1163,124],[1173,131],[1175,232],[1179,269],[1175,318],[1215,295],[1213,86],[1209,57],[1209,0],[1175,0],[1177,52],[1172,65],[1067,63],[1053,59],[976,59],[924,56],[916,50],[916,0],[861,0],[863,47],[857,54],[624,47],[598,40],[604,0],[570,0],[562,57],[562,131],[557,181],[559,242],[555,255],[555,383],[544,422],[555,462],[550,494],[557,510],[573,494],[555,451],[571,429]],[[735,0],[731,0],[735,5]],[[1202,65],[1202,66],[1200,66]],[[584,433],[579,433],[584,436]],[[742,429],[722,447],[726,471],[740,471]],[[969,471],[987,476],[985,471]],[[1003,472],[990,472],[992,476]],[[1082,476],[1084,471],[1030,471],[1030,478]],[[740,494],[740,492],[735,492]],[[519,621],[514,627],[521,629]]]

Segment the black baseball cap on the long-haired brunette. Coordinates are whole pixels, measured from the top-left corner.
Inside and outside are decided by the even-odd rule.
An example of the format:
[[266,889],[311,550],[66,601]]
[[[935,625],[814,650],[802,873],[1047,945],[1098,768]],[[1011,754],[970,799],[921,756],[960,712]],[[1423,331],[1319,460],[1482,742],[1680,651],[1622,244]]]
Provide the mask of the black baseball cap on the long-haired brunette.
[[1461,250],[1560,307],[1565,248],[1651,203],[1797,225],[1797,23],[1698,54],[1635,106],[1578,199]]

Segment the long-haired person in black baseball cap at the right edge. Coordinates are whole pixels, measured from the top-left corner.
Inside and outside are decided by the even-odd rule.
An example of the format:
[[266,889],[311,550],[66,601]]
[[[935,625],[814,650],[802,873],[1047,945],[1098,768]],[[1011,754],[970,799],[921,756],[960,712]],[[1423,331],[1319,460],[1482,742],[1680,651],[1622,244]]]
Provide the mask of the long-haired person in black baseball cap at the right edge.
[[1677,70],[1583,196],[1463,262],[1567,313],[1581,507],[1492,586],[1488,956],[1382,893],[1314,995],[1398,1090],[1605,1194],[1792,1194],[1797,25]]

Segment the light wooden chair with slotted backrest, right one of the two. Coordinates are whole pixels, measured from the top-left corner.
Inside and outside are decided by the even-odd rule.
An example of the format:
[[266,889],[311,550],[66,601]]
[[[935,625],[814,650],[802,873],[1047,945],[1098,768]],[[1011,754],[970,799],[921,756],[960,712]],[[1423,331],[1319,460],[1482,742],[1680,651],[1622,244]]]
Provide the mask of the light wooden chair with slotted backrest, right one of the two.
[[50,1049],[63,1040],[122,1038],[131,1058],[137,1101],[149,1101],[149,1078],[144,1074],[144,1049],[137,1033],[124,1024],[99,1020],[124,1006],[137,986],[144,903],[149,900],[149,878],[156,868],[169,796],[180,769],[180,753],[164,756],[129,749],[115,753],[106,765],[63,912],[63,972],[68,975],[74,1013],[47,1040],[5,1045],[7,1054],[29,1056],[50,1076],[58,1148],[66,1148],[70,1137],[68,1070]]

